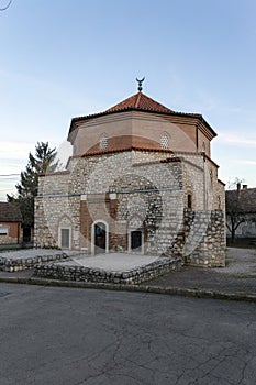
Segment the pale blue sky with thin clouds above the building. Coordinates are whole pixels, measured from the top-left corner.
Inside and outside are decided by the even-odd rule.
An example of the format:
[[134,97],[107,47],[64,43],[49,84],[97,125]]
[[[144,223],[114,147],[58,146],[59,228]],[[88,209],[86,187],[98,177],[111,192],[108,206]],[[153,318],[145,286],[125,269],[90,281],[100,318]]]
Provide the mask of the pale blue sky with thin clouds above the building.
[[[0,0],[0,8],[8,0]],[[144,92],[200,112],[220,178],[256,187],[255,0],[13,0],[0,12],[0,200],[37,141]]]

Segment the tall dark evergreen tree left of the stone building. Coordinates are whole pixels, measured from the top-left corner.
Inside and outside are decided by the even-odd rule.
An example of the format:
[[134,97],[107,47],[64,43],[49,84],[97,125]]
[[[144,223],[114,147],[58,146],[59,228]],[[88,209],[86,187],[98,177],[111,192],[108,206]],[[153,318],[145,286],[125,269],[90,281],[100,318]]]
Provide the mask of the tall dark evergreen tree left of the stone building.
[[29,154],[29,162],[21,173],[21,182],[15,186],[16,195],[7,195],[8,201],[18,201],[23,218],[23,228],[34,226],[34,198],[38,190],[38,174],[54,172],[58,165],[55,162],[56,148],[49,148],[48,142],[37,142],[35,155]]

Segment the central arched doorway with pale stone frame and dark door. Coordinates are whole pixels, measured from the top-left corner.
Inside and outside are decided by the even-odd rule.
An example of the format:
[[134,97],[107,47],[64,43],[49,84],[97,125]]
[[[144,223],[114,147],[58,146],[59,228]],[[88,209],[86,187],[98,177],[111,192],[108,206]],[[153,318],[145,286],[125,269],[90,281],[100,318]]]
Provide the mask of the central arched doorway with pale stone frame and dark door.
[[108,224],[98,221],[92,224],[92,254],[109,252]]

